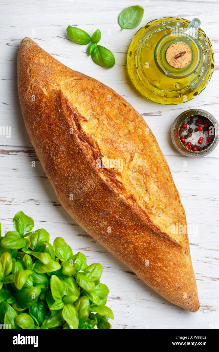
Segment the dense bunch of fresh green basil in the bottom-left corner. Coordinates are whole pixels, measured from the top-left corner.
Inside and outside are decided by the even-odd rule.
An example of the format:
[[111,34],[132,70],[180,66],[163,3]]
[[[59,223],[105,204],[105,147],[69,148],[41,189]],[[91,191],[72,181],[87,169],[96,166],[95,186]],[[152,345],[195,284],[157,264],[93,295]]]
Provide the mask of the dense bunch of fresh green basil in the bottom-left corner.
[[13,226],[0,237],[0,323],[11,329],[111,329],[109,289],[99,282],[102,265],[88,266],[62,237],[51,245],[49,233],[31,231],[34,221],[23,212]]

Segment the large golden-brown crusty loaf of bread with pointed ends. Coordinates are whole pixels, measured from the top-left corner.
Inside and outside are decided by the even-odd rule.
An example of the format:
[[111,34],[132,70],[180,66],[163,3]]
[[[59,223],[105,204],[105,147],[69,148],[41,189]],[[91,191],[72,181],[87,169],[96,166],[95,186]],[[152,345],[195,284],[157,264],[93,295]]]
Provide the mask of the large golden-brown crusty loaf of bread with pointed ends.
[[31,142],[66,211],[156,292],[196,312],[185,211],[141,115],[30,38],[18,52],[18,91]]

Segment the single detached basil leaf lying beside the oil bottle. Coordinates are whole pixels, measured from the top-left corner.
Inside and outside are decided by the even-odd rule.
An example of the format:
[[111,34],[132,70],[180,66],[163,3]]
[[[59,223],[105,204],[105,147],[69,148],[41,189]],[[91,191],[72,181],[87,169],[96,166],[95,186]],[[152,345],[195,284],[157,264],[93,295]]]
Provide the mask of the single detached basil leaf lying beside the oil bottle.
[[144,9],[141,6],[130,6],[125,8],[118,16],[118,24],[121,27],[121,31],[124,28],[135,28],[142,20]]

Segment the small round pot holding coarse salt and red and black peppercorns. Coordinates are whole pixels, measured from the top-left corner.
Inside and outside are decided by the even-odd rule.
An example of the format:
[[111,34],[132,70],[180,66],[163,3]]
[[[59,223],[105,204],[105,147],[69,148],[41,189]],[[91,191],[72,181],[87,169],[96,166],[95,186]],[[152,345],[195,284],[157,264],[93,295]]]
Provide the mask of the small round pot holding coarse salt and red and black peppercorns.
[[[187,120],[188,118],[190,118],[189,121],[191,122],[191,124],[192,124],[192,120],[196,121],[195,127],[197,127],[197,128],[195,130],[198,130],[197,131],[198,133],[199,133],[199,129],[201,130],[201,132],[203,132],[204,138],[202,137],[202,140],[204,139],[203,142],[206,144],[204,147],[202,147],[202,143],[200,142],[201,138],[199,138],[196,145],[191,145],[191,142],[188,143],[187,139],[188,139],[188,141],[189,140],[193,141],[192,136],[190,138],[188,138],[188,134],[186,134],[186,136],[185,136],[185,134],[182,135],[182,133],[185,131],[182,126],[183,126],[183,124],[185,124],[185,122],[188,121]],[[202,120],[203,122],[201,124],[198,123],[198,119],[200,119],[200,121]],[[205,131],[202,130],[203,127],[199,127],[199,126],[202,126],[202,124],[204,125],[204,122],[206,122],[205,124],[207,126],[207,127],[205,127]],[[192,126],[194,126],[194,122],[193,122]],[[188,127],[190,127],[190,126],[186,127],[187,130],[188,130]],[[183,155],[186,155],[189,157],[205,156],[205,155],[211,153],[212,150],[218,144],[218,127],[219,127],[219,125],[218,125],[217,120],[207,111],[202,110],[202,109],[189,109],[189,110],[182,112],[173,122],[172,129],[171,129],[172,142],[173,142],[174,146],[176,147],[176,149]],[[193,134],[195,135],[195,133],[197,133],[197,132],[193,132]],[[209,134],[208,138],[206,138],[207,137],[206,134]],[[190,133],[190,135],[191,135],[191,133]],[[198,136],[200,136],[200,133],[198,134]],[[183,137],[186,137],[186,140],[185,140],[185,138],[182,139]],[[211,138],[211,141],[209,143],[205,142],[205,140],[208,140],[210,138]],[[187,143],[190,145],[187,145]],[[201,143],[201,145],[200,145],[201,150],[193,150],[193,148],[194,149],[199,148],[199,143]]]

